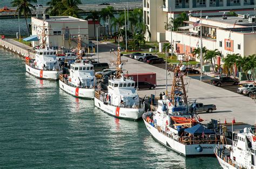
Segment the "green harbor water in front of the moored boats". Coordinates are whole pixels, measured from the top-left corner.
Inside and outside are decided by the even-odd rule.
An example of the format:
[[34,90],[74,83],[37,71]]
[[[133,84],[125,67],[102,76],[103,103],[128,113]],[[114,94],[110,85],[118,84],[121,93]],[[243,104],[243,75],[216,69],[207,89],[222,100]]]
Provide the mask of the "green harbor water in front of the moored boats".
[[220,167],[215,157],[166,149],[142,120],[111,117],[27,74],[17,54],[0,48],[0,63],[0,167]]

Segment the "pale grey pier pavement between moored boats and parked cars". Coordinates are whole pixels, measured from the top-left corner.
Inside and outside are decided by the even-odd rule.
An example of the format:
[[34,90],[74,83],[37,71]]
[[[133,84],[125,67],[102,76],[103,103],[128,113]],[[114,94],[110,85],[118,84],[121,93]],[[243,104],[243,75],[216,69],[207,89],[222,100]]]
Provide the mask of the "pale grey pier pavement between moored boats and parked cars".
[[[116,56],[109,52],[112,48],[114,51],[117,51],[117,47],[115,45],[105,43],[99,44],[100,62],[109,62],[110,60],[116,59]],[[97,55],[94,57],[97,58]],[[157,74],[157,88],[154,90],[139,90],[138,93],[140,97],[144,97],[145,95],[150,96],[150,94],[158,96],[160,92],[165,91],[165,69],[144,64],[143,62],[127,57],[123,57],[122,59],[128,60],[124,65],[124,69],[129,73],[154,72]],[[172,76],[173,75],[171,73],[167,78],[169,90],[171,90],[170,84],[172,83]],[[200,113],[200,117],[205,119],[204,123],[210,122],[212,118],[220,120],[221,123],[224,123],[225,118],[227,122],[231,122],[232,118],[235,117],[236,122],[243,122],[251,125],[255,124],[256,104],[249,97],[225,89],[233,88],[232,86],[226,86],[223,88],[215,87],[197,80],[194,76],[192,76],[192,78],[190,76],[185,77],[184,80],[185,83],[187,83],[186,90],[189,101],[197,100],[197,102],[204,104],[217,105],[217,110],[213,111],[211,114]],[[204,79],[204,81],[207,81],[207,79]],[[232,90],[236,90],[235,88]]]

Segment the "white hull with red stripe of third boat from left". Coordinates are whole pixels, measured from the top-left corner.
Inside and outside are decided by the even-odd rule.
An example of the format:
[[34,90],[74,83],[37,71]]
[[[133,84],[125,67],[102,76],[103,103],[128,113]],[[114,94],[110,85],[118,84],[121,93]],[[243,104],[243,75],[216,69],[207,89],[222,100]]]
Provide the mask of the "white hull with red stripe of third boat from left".
[[106,104],[98,98],[94,98],[95,106],[103,110],[107,114],[117,117],[117,118],[126,118],[126,119],[139,119],[142,117],[145,109],[144,108],[122,108],[114,105]]

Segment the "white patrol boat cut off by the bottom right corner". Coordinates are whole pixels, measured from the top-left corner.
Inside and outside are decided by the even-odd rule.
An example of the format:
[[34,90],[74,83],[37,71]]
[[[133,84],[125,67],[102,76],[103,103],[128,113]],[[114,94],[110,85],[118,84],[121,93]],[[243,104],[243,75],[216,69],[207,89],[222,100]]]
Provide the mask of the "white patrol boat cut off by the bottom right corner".
[[255,131],[244,128],[244,132],[237,134],[237,142],[216,146],[214,153],[223,168],[256,168],[255,150]]

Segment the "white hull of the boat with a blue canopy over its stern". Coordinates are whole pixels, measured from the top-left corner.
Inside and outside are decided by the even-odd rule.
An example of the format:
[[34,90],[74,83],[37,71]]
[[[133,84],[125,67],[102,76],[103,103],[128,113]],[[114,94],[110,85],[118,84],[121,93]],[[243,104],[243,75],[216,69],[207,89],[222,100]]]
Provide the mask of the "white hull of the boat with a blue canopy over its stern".
[[152,125],[147,123],[144,119],[143,121],[146,125],[147,130],[149,130],[151,135],[156,140],[158,140],[158,142],[165,145],[169,149],[172,149],[173,151],[183,154],[183,156],[205,156],[205,155],[214,154],[213,149],[217,144],[200,144],[203,151],[199,152],[197,151],[199,144],[191,144],[191,145],[181,144],[177,140],[167,137],[164,135],[164,133],[159,132],[156,128],[154,128]]

